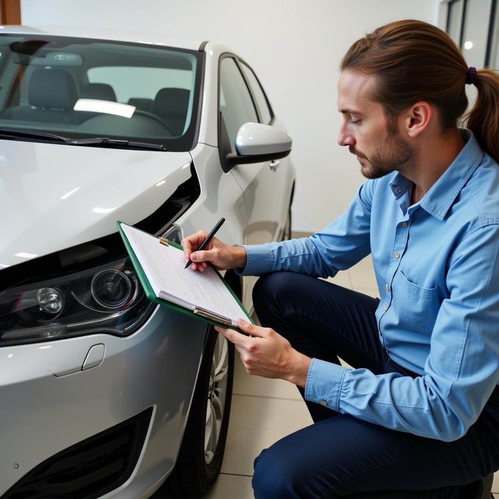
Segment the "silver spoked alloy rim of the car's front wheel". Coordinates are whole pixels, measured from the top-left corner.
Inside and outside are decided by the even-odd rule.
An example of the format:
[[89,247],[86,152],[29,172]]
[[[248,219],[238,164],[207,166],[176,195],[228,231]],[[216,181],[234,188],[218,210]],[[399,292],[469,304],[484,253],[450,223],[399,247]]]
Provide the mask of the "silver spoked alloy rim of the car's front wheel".
[[213,461],[218,446],[227,400],[228,372],[229,345],[227,339],[219,334],[213,352],[206,408],[205,461],[207,465]]

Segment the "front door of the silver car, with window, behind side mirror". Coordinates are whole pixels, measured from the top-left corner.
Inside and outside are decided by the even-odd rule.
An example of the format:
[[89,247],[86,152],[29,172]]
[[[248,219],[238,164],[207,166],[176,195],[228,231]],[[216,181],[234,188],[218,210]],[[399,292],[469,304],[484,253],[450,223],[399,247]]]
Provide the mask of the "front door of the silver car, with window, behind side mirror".
[[[236,136],[241,125],[261,122],[255,98],[235,56],[224,54],[220,61],[219,120],[221,161],[236,153]],[[249,69],[249,68],[248,68]],[[232,175],[244,191],[248,217],[247,243],[273,241],[280,216],[279,161],[237,165]]]

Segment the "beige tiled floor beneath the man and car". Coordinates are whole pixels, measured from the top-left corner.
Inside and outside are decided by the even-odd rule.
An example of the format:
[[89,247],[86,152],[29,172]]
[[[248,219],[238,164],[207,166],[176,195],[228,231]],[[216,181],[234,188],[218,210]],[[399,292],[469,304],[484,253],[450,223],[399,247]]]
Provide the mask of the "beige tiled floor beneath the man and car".
[[[331,280],[370,296],[379,296],[370,257]],[[282,380],[250,376],[236,354],[229,436],[222,473],[210,499],[253,499],[253,460],[262,449],[312,423],[295,386]],[[493,486],[499,499],[499,476]],[[167,499],[156,493],[153,499]]]

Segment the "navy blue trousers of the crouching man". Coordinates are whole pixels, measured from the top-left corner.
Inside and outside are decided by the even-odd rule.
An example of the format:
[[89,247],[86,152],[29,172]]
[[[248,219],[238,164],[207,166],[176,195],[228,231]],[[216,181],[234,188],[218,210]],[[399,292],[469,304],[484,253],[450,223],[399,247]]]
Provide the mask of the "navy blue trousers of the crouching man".
[[[294,272],[260,277],[260,323],[298,351],[338,357],[375,374],[416,374],[393,362],[378,339],[378,299]],[[303,396],[303,390],[300,389]],[[499,394],[454,442],[390,430],[305,401],[314,424],[255,459],[255,499],[480,499],[482,478],[499,469]]]

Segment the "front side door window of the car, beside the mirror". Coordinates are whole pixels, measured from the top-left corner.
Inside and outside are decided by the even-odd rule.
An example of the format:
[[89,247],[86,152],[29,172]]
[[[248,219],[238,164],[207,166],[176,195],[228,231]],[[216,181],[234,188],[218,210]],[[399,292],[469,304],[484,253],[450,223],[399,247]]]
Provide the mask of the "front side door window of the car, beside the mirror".
[[258,123],[250,91],[232,57],[220,63],[220,112],[224,118],[231,152],[236,152],[236,135],[243,123]]

